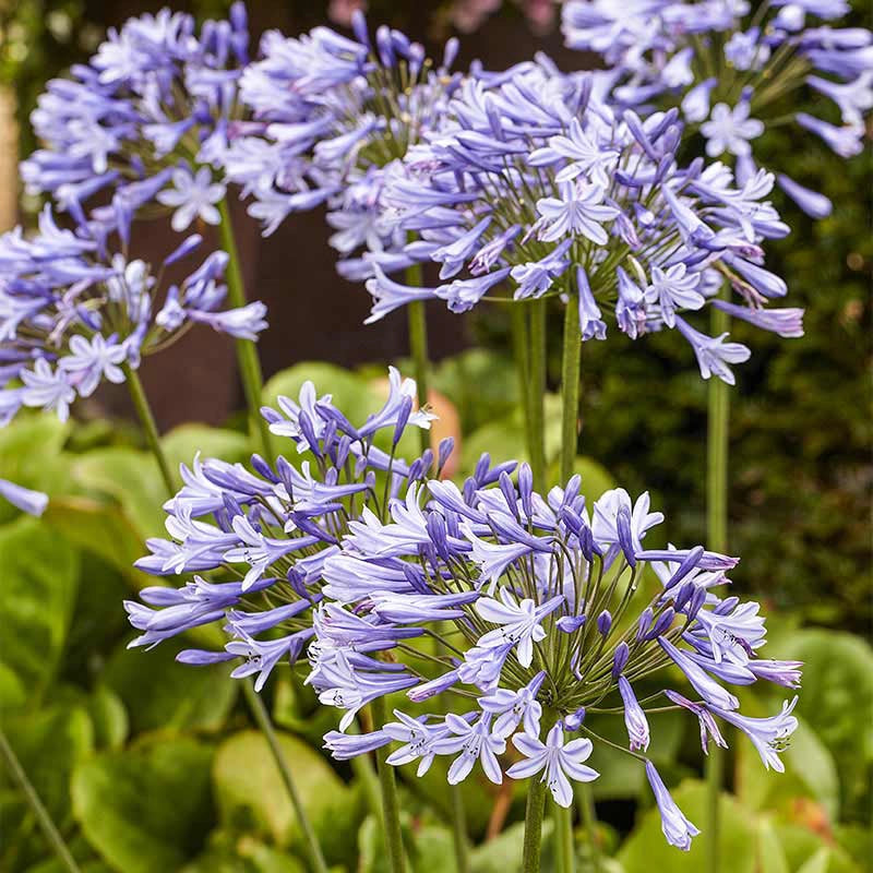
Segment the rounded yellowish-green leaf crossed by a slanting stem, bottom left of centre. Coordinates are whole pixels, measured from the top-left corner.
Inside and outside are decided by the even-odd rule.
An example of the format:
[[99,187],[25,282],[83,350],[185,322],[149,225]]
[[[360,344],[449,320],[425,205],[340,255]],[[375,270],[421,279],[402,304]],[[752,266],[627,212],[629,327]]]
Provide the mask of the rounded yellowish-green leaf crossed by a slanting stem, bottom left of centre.
[[[278,738],[327,860],[342,859],[349,847],[336,835],[352,833],[357,821],[354,792],[314,749],[287,733]],[[299,841],[291,801],[263,734],[246,730],[225,740],[215,755],[213,781],[223,822],[249,821],[280,846]]]

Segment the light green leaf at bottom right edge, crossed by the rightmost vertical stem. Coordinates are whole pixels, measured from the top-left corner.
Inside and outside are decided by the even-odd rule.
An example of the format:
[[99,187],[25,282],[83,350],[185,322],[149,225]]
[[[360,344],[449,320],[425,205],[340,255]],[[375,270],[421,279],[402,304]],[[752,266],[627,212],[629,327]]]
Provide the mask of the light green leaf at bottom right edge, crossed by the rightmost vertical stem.
[[[698,781],[682,782],[672,792],[685,816],[702,830],[706,826],[706,786]],[[737,801],[722,794],[719,803],[721,832],[719,856],[725,859],[730,873],[754,873],[755,828],[748,812]],[[706,847],[703,835],[692,840],[691,849],[683,852],[670,846],[661,833],[657,809],[643,814],[637,826],[625,841],[618,859],[627,873],[650,873],[669,870],[670,873],[697,873],[706,869]]]

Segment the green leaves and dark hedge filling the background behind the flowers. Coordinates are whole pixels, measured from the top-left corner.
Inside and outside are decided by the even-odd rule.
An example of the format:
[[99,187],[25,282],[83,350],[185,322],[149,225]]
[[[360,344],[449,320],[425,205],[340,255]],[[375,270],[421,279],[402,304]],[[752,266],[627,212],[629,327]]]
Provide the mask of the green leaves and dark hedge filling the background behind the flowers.
[[[384,17],[390,5],[378,14]],[[445,4],[431,5],[429,13]],[[45,80],[89,51],[106,16],[117,14],[82,0],[7,0],[0,10],[0,76],[14,84],[22,118]],[[25,150],[28,135],[25,124]],[[816,224],[796,215],[794,232],[777,248],[792,298],[806,307],[806,336],[768,340],[736,326],[754,348],[750,363],[738,368],[731,397],[731,550],[743,558],[736,584],[768,601],[774,657],[797,657],[806,668],[787,773],[765,774],[748,743],[732,743],[721,850],[731,873],[852,873],[871,869],[873,857],[873,653],[862,638],[872,589],[871,156],[824,164],[820,152],[778,131],[768,136],[786,170],[827,190],[837,208]],[[503,314],[491,310],[473,327],[485,348],[442,361],[434,376],[454,405],[441,409],[446,427],[463,433],[461,477],[486,447],[495,457],[524,455]],[[557,337],[557,313],[553,330]],[[381,363],[355,373],[299,363],[276,374],[265,397],[296,393],[311,378],[340,406],[367,412],[382,374]],[[547,398],[547,408],[554,416],[553,455],[557,398]],[[705,385],[674,332],[633,348],[620,336],[586,344],[579,461],[586,491],[598,494],[613,478],[631,491],[649,488],[678,541],[702,537],[705,408]],[[196,450],[229,461],[250,452],[232,421],[226,429],[186,426],[164,442],[174,464]],[[179,666],[171,643],[150,654],[125,647],[131,633],[121,600],[153,582],[132,562],[144,538],[163,529],[160,480],[135,431],[99,417],[69,426],[21,418],[0,431],[0,477],[51,497],[40,521],[0,505],[3,727],[85,873],[306,873],[278,774],[226,668]],[[208,644],[210,633],[192,634],[184,645]],[[267,702],[328,862],[381,873],[372,785],[320,751],[333,714],[287,674]],[[767,704],[772,709],[766,699],[743,701],[751,714]],[[670,714],[659,718],[653,758],[671,784],[681,782],[675,798],[699,822],[696,731]],[[611,856],[607,871],[701,869],[703,846],[683,856],[663,842],[633,762],[598,755],[594,765],[603,777],[594,787],[602,848]],[[452,873],[451,801],[436,770],[426,780],[404,779],[402,809],[407,836],[415,836],[414,870]],[[515,869],[524,798],[514,790],[494,794],[473,779],[465,786],[478,845],[474,873]],[[495,808],[505,810],[503,818]],[[0,870],[60,870],[5,773],[0,827]],[[587,870],[581,835],[577,850]]]

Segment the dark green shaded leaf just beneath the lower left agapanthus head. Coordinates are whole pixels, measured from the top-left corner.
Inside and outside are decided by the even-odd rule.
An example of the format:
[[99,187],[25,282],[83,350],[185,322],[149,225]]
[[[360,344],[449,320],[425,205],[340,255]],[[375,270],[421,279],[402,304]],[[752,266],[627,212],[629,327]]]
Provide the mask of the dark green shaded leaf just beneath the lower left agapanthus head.
[[238,685],[226,663],[178,663],[182,644],[168,639],[150,651],[123,646],[106,665],[104,682],[123,702],[131,730],[219,730]]

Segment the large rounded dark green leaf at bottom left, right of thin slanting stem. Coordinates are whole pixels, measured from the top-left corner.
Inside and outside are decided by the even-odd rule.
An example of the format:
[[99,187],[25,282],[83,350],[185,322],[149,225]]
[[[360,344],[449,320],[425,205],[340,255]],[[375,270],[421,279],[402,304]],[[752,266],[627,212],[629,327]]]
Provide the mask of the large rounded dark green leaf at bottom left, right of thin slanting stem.
[[178,739],[81,764],[73,813],[91,845],[123,873],[178,870],[208,829],[212,756],[208,746]]

